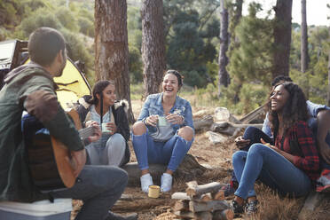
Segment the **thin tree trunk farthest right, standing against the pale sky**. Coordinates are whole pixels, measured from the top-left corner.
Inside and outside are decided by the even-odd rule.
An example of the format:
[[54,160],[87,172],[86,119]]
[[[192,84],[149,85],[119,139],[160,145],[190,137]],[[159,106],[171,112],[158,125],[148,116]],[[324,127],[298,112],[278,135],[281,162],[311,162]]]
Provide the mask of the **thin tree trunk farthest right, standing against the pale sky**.
[[308,68],[308,35],[306,21],[306,0],[302,0],[302,35],[301,35],[301,71],[305,73]]

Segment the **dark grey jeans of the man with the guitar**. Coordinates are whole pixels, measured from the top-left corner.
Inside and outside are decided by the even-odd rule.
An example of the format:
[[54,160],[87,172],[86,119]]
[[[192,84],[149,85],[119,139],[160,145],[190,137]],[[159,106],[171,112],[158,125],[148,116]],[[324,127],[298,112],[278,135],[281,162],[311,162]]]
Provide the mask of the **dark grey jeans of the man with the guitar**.
[[125,170],[113,166],[86,165],[70,189],[51,192],[54,198],[83,200],[75,220],[105,220],[128,182]]

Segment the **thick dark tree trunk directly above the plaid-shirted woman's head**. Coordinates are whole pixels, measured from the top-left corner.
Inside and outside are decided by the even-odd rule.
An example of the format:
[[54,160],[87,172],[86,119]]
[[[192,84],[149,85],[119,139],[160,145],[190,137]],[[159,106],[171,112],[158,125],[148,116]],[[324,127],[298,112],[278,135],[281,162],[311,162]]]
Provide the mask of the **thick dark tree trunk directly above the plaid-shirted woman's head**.
[[277,0],[274,25],[274,63],[272,77],[288,75],[291,44],[292,0]]

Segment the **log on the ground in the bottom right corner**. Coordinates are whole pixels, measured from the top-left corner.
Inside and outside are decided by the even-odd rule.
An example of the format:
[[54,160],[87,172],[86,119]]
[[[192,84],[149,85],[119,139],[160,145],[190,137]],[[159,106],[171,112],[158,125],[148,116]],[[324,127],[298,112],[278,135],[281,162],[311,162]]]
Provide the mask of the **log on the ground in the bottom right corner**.
[[303,204],[303,208],[300,210],[298,219],[307,220],[310,214],[314,211],[315,208],[318,207],[318,205],[321,203],[321,201],[324,198],[325,198],[325,194],[311,191],[307,196],[305,203]]

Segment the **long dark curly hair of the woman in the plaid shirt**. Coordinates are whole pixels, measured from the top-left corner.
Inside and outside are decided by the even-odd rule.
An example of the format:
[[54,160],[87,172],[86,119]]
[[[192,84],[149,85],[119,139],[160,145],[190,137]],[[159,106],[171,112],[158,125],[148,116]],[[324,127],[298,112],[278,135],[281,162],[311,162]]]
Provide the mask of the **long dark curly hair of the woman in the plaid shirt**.
[[[303,94],[303,90],[297,84],[286,82],[279,85],[283,85],[284,89],[289,93],[289,98],[287,98],[287,102],[283,106],[282,110],[282,128],[284,132],[286,132],[287,129],[291,128],[295,124],[295,122],[306,122],[309,118],[309,113],[307,110],[306,98]],[[273,90],[275,90],[275,88],[279,85],[276,85]],[[268,102],[268,112],[271,122],[271,130],[273,131],[274,138],[276,138],[279,132],[279,117],[276,111],[271,110],[271,97],[269,98]]]

